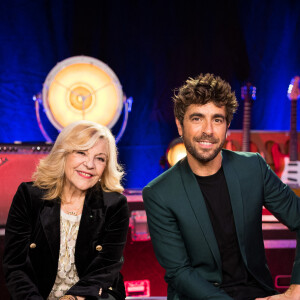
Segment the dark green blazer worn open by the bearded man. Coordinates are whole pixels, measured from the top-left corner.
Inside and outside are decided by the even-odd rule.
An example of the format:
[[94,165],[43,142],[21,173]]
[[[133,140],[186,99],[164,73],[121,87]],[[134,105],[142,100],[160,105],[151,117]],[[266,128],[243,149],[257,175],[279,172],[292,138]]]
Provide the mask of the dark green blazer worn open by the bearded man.
[[[243,261],[256,280],[275,293],[264,251],[262,206],[299,232],[300,199],[259,154],[222,150],[222,157]],[[219,288],[220,252],[187,159],[151,181],[143,199],[154,251],[166,270],[168,299],[231,299]],[[292,283],[300,284],[299,253]]]

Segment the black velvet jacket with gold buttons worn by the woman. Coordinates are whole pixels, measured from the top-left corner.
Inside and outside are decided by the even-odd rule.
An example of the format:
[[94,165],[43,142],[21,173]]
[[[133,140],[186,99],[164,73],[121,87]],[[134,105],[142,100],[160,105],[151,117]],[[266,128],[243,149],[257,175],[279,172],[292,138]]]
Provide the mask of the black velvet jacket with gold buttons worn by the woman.
[[[3,267],[12,299],[47,299],[56,278],[60,202],[42,200],[43,195],[32,183],[22,183],[9,211]],[[87,192],[75,246],[79,281],[67,294],[97,299],[102,289],[125,298],[119,271],[128,223],[125,196],[100,188]]]

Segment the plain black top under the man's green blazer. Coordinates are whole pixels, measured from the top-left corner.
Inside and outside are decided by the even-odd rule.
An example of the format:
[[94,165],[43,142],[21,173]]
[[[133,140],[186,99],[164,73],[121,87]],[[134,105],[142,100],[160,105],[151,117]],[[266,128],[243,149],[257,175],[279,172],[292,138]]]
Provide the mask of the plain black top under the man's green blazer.
[[223,168],[211,176],[195,176],[219,246],[223,275],[221,288],[236,300],[268,296],[243,262]]

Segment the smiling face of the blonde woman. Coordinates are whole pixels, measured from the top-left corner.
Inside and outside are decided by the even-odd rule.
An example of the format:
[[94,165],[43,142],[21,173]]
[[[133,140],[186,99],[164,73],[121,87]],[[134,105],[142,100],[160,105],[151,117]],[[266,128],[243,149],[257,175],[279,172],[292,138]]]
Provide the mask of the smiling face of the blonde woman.
[[68,154],[65,164],[65,191],[86,191],[101,178],[108,159],[108,144],[99,139],[88,150],[76,150]]

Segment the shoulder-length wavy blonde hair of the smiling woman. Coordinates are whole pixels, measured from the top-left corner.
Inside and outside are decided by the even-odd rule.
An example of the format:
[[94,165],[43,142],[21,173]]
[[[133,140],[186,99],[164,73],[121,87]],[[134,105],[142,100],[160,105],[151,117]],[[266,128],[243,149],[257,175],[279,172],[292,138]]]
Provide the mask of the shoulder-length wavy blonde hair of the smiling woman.
[[66,156],[73,151],[92,148],[99,139],[107,141],[108,159],[101,181],[97,184],[107,192],[123,192],[121,179],[124,172],[117,161],[117,147],[112,133],[107,127],[98,123],[78,121],[61,131],[51,152],[40,160],[32,176],[35,186],[47,190],[44,199],[53,200],[61,196],[65,182]]

